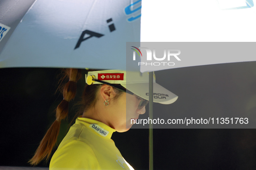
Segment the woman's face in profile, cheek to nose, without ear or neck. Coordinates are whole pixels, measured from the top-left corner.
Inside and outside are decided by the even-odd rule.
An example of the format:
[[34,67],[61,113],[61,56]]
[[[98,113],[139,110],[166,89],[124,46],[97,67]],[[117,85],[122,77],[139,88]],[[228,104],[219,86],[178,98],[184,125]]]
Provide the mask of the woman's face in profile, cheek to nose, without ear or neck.
[[119,98],[113,101],[113,105],[111,104],[113,107],[111,124],[117,132],[129,130],[133,126],[134,120],[146,112],[145,106],[138,109],[139,102],[138,97],[127,93],[121,94]]

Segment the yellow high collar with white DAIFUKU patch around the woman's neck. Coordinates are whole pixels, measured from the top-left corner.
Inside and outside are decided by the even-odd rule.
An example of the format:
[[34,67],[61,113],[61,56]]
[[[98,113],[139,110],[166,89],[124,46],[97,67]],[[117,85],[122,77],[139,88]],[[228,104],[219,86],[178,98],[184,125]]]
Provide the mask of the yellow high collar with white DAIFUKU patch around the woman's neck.
[[106,124],[104,124],[100,121],[89,119],[86,117],[81,117],[81,116],[79,116],[76,119],[75,124],[84,125],[88,129],[90,129],[92,132],[94,132],[96,135],[99,135],[99,136],[101,136],[103,138],[107,138],[107,139],[110,139],[113,132],[116,132],[115,129],[107,126]]

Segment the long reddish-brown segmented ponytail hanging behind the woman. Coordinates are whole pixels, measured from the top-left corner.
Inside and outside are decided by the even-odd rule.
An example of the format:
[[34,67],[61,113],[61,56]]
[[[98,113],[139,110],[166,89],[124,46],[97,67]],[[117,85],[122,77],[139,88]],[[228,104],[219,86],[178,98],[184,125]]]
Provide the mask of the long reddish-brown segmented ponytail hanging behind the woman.
[[77,89],[76,82],[82,76],[81,69],[65,69],[65,74],[65,77],[68,76],[69,81],[63,88],[64,98],[56,109],[56,120],[52,123],[52,126],[46,132],[44,138],[36,150],[35,155],[29,160],[29,163],[32,165],[39,164],[39,162],[43,159],[46,161],[49,160],[52,153],[52,148],[57,141],[61,120],[68,116],[68,102],[75,98]]

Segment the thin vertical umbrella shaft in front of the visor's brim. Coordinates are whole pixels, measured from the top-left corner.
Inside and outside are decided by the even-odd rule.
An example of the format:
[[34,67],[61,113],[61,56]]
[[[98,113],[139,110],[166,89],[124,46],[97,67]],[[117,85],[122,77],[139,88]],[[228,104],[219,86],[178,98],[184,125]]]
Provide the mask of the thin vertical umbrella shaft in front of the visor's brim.
[[[153,72],[149,72],[149,119],[153,120]],[[149,170],[153,170],[153,124],[149,123]]]

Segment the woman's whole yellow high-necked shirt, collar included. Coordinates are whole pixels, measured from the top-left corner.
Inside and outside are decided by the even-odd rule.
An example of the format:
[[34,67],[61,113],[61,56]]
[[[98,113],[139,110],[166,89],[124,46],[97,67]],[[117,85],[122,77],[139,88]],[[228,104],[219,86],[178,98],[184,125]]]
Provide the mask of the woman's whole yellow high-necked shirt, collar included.
[[50,170],[133,170],[114,141],[115,129],[78,117],[52,156]]

